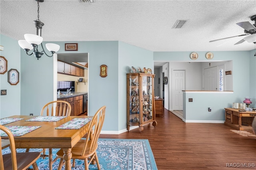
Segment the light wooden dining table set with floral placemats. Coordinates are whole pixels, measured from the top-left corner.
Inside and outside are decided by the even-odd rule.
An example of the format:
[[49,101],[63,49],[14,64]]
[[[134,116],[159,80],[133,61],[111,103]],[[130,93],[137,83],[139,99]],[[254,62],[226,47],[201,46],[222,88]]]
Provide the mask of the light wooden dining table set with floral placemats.
[[[8,118],[22,118],[20,121],[4,126],[40,126],[22,136],[14,136],[16,148],[62,148],[65,170],[71,170],[72,147],[88,132],[90,122],[79,129],[56,129],[74,118],[92,118],[92,116],[69,116],[56,122],[26,121],[36,116],[17,115]],[[8,137],[2,136],[2,139]]]

